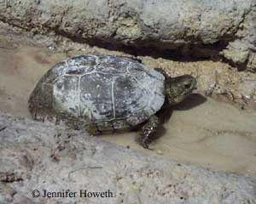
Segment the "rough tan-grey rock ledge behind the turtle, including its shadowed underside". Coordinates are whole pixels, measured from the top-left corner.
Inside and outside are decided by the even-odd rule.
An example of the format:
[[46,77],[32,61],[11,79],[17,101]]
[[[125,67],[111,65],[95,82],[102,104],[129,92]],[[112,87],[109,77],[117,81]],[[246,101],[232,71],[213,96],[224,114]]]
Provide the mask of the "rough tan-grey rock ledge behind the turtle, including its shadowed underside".
[[34,33],[55,31],[78,42],[147,52],[157,48],[170,56],[220,52],[234,64],[256,70],[254,0],[2,0],[0,20]]

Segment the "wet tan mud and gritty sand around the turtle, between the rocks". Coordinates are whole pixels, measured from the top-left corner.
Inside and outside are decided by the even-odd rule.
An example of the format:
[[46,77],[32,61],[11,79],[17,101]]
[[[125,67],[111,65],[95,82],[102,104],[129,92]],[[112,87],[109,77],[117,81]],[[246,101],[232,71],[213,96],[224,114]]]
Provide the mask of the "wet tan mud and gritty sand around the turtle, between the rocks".
[[[27,111],[29,94],[38,79],[55,63],[82,53],[121,54],[85,45],[72,49],[65,41],[58,44],[47,39],[41,40],[47,43],[36,45],[29,38],[24,40],[18,36],[15,41],[9,41],[7,37],[13,39],[4,35],[0,41],[0,110],[15,116],[30,117]],[[241,82],[241,77],[246,76],[250,79],[247,82],[254,82],[255,76],[237,72],[222,62],[175,62],[145,56],[140,59],[151,67],[162,67],[172,75],[188,73],[195,76],[197,73],[201,94],[194,94],[182,105],[173,108],[170,120],[164,125],[164,135],[151,145],[152,151],[144,150],[137,144],[137,133],[105,135],[102,139],[151,156],[256,176],[256,111],[242,111],[234,105],[202,95],[207,91],[207,86],[217,80],[221,86],[218,85],[220,88],[215,88],[213,94],[223,90],[221,88],[230,88],[236,90],[233,93],[239,96],[242,92],[239,92],[238,87],[245,82]],[[252,86],[249,88],[252,89]],[[254,99],[253,95],[251,97]],[[253,103],[253,100],[250,101]]]

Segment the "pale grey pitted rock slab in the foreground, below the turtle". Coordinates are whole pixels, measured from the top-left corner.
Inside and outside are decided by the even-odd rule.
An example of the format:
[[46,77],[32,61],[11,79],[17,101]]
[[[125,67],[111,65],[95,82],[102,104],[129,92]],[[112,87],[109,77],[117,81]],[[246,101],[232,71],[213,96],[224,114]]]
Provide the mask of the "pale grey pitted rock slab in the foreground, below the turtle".
[[[6,127],[0,132],[1,169],[13,152],[17,169],[29,175],[2,180],[1,203],[256,203],[255,178],[151,158],[3,112],[0,123]],[[96,192],[102,197],[90,197]]]

